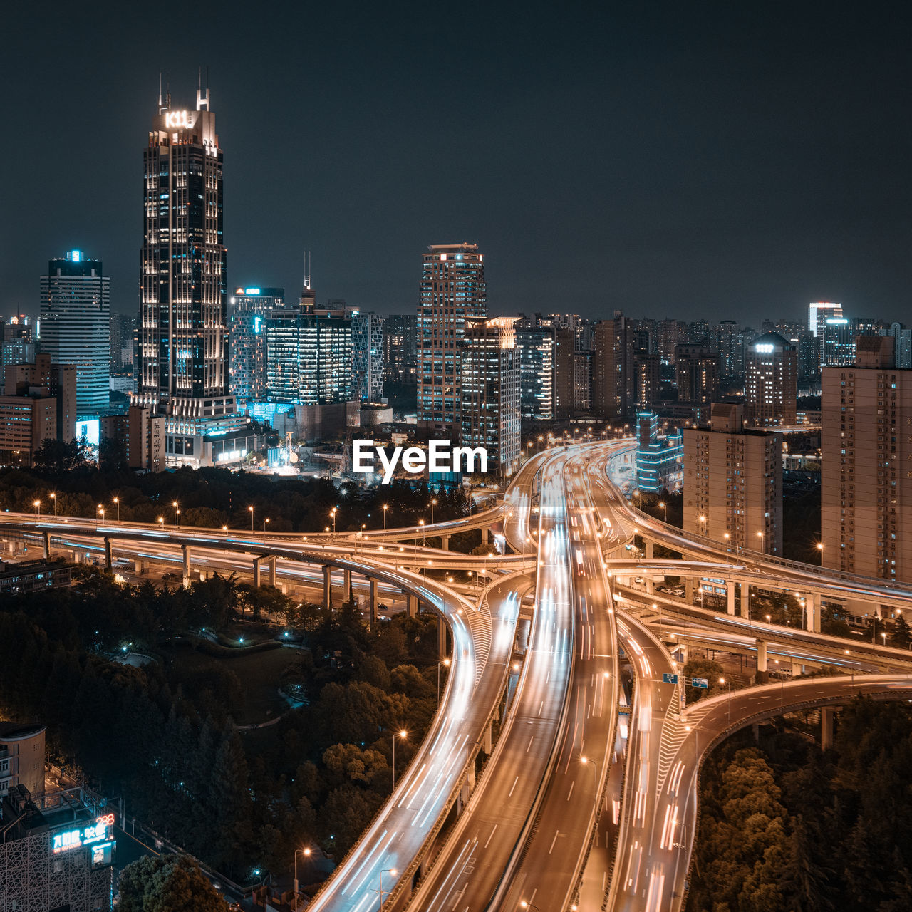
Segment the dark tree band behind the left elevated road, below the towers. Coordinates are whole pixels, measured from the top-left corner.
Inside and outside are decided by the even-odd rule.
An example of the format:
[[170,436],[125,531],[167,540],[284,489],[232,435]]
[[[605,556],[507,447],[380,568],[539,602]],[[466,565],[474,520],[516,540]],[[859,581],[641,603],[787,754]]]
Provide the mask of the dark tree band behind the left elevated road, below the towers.
[[[57,447],[64,446],[58,444]],[[75,447],[75,444],[73,445]],[[72,449],[72,448],[71,448]],[[78,457],[78,449],[75,450]],[[51,498],[51,493],[55,497]],[[119,503],[114,503],[117,497]],[[175,472],[137,474],[129,470],[98,470],[93,464],[41,461],[39,468],[0,471],[0,510],[34,513],[36,500],[43,513],[95,517],[100,504],[105,515],[124,521],[174,523],[173,503],[178,503],[182,525],[250,529],[271,532],[322,532],[332,528],[330,511],[337,507],[338,532],[382,528],[383,504],[389,509],[387,524],[412,525],[423,519],[437,522],[469,513],[461,489],[431,490],[426,483],[394,481],[362,488],[351,482],[337,487],[327,479],[287,478],[259,472],[227,469],[182,468]]]

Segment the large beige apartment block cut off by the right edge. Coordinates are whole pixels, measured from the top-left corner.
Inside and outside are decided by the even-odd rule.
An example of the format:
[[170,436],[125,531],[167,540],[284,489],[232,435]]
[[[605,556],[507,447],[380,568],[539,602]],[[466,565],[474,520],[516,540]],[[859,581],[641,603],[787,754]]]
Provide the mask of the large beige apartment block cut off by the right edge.
[[823,565],[912,583],[912,370],[894,338],[861,336],[855,364],[824,368]]

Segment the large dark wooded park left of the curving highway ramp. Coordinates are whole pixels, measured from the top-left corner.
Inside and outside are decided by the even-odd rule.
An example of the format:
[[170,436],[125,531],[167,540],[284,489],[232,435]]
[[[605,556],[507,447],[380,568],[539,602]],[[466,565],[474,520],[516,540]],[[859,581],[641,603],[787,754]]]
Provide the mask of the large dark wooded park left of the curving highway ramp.
[[[391,732],[409,732],[397,744],[402,769],[437,684],[435,618],[398,617],[370,632],[351,604],[287,606],[309,647],[286,650],[309,703],[238,731],[231,659],[212,662],[191,687],[178,673],[181,650],[207,644],[175,637],[218,629],[244,602],[244,587],[218,576],[168,591],[97,575],[0,606],[4,714],[46,722],[52,751],[235,879],[254,866],[287,870],[302,845],[343,854],[389,794]],[[163,660],[131,668],[107,658],[128,641]]]

